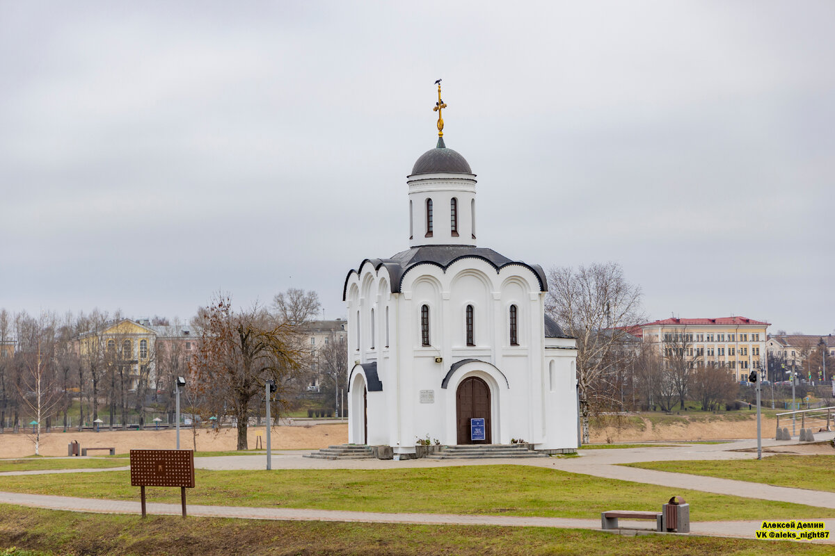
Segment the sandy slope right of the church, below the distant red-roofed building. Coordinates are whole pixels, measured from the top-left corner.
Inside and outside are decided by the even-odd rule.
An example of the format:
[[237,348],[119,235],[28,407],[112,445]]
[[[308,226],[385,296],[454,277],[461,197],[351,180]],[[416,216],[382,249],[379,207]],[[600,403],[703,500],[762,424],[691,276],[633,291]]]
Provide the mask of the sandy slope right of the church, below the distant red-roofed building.
[[[672,423],[653,426],[643,419],[644,428],[593,428],[590,431],[592,443],[631,442],[647,440],[725,440],[731,438],[757,438],[757,419],[746,421],[712,421],[696,423]],[[782,423],[781,423],[782,424]],[[775,419],[762,419],[762,436],[771,437],[777,429]]]

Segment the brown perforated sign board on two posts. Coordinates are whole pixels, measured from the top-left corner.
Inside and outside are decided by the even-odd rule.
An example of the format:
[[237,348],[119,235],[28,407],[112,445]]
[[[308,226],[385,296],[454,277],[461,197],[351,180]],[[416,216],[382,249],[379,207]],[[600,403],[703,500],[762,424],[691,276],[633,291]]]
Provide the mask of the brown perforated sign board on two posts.
[[195,488],[192,450],[130,450],[130,486],[139,487],[145,517],[145,487],[180,487],[185,518],[185,489]]

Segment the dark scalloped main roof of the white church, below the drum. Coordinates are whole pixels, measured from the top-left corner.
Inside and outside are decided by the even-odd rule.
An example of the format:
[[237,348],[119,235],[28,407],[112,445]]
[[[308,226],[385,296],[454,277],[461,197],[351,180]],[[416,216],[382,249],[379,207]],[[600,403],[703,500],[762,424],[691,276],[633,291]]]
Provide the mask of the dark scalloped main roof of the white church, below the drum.
[[[496,273],[511,264],[528,268],[539,281],[539,291],[548,291],[548,281],[545,279],[544,270],[539,264],[527,264],[521,261],[514,261],[496,253],[493,249],[470,247],[467,245],[424,245],[423,247],[413,247],[406,251],[396,253],[390,258],[367,258],[360,263],[358,268],[362,268],[362,265],[365,263],[371,263],[374,266],[374,270],[379,270],[380,267],[386,267],[388,275],[391,277],[390,287],[392,293],[399,293],[403,276],[417,265],[433,264],[446,272],[452,263],[461,258],[480,258],[492,264],[493,268],[496,269]],[[358,271],[352,269],[345,277],[345,285],[342,287],[342,301],[347,299],[348,279],[351,278],[352,273],[358,273]]]

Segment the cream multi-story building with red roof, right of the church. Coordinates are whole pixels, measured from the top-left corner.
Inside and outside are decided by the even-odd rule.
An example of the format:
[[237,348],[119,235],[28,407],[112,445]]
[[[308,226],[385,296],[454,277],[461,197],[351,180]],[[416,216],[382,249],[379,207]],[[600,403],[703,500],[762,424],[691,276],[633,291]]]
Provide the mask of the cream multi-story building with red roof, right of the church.
[[725,367],[737,380],[747,380],[751,368],[764,368],[769,326],[746,317],[721,317],[665,318],[640,328],[644,342],[657,344],[662,356],[684,350],[696,366]]

